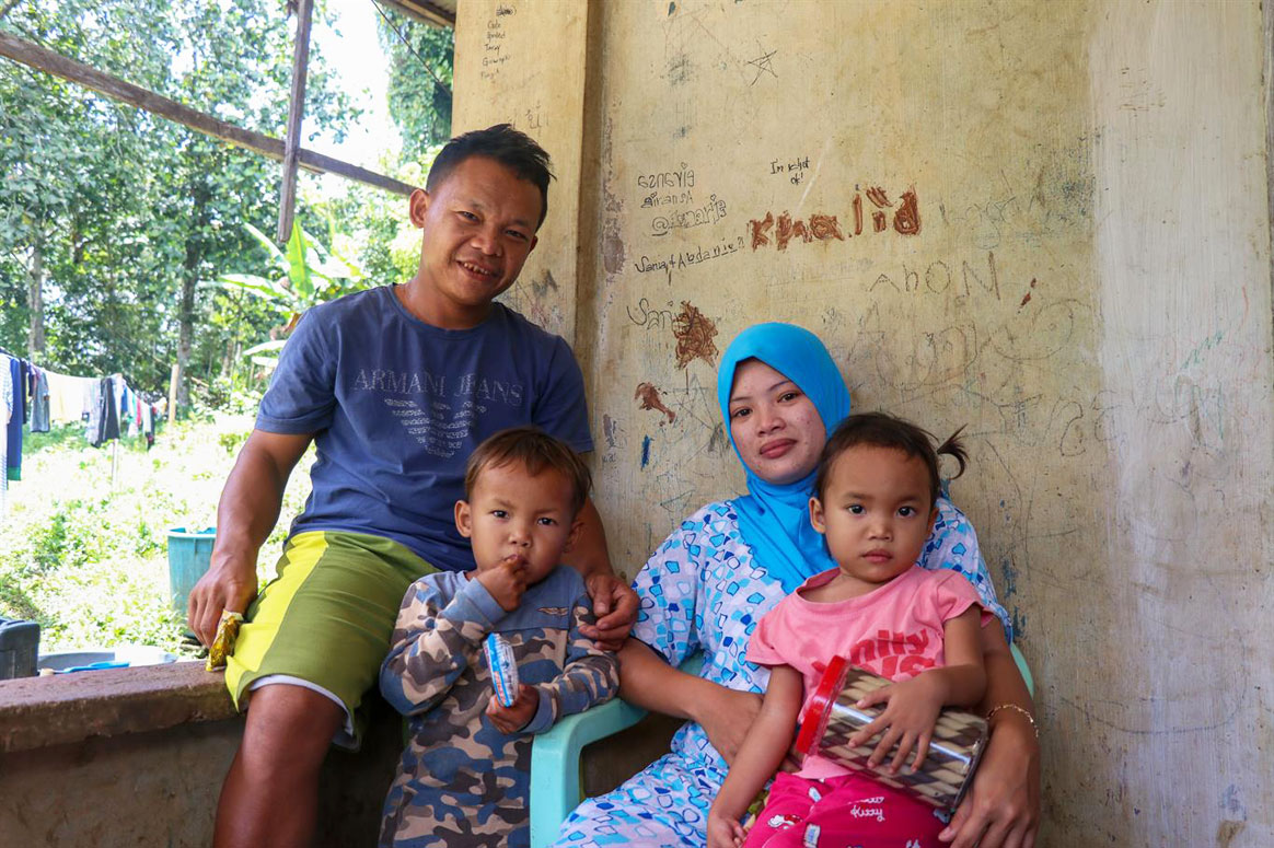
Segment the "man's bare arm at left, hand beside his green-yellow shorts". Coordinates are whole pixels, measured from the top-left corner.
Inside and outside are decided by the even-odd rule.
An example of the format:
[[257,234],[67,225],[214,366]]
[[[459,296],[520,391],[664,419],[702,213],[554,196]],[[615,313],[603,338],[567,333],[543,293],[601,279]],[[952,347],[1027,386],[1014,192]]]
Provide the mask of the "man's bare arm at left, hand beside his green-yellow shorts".
[[256,555],[274,530],[288,475],[312,434],[252,430],[217,504],[217,541],[208,573],[190,592],[190,629],[204,644],[217,634],[222,610],[242,612],[256,597]]

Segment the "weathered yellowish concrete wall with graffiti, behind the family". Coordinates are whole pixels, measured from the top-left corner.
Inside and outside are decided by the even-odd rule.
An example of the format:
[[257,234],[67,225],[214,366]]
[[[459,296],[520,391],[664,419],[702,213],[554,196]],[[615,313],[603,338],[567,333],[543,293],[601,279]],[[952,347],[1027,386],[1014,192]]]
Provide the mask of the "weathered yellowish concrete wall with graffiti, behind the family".
[[856,409],[964,425],[1046,845],[1274,844],[1269,32],[1255,0],[460,8],[456,129],[563,176],[513,302],[583,364],[617,565],[739,491],[715,367],[754,321],[817,331]]

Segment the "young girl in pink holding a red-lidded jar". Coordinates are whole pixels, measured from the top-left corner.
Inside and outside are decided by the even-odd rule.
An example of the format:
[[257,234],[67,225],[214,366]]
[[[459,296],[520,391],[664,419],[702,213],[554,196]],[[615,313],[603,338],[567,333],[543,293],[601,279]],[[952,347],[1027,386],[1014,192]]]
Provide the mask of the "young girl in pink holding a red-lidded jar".
[[[791,747],[804,693],[828,661],[889,677],[859,702],[887,703],[851,738],[884,736],[871,758],[897,773],[913,754],[917,768],[944,705],[973,705],[986,688],[978,628],[992,620],[977,591],[950,570],[916,565],[938,509],[938,455],[964,470],[953,435],[934,451],[913,424],[869,413],[848,416],[828,439],[809,500],[837,568],[815,574],[757,628],[748,660],[768,666],[761,713],[708,814],[710,848],[938,848],[944,824],[927,803],[814,755],[795,774],[780,773],[757,824],[744,838],[739,819]],[[958,475],[957,475],[958,476]]]

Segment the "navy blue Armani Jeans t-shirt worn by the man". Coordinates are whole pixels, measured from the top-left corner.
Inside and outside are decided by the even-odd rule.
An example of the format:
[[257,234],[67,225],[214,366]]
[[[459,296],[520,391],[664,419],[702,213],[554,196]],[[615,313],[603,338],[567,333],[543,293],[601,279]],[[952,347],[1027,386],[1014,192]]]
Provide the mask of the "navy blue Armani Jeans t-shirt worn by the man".
[[583,377],[561,336],[499,303],[476,327],[441,330],[408,312],[395,288],[307,311],[256,427],[315,434],[313,491],[290,535],[371,534],[437,568],[470,569],[454,521],[465,461],[488,435],[525,424],[591,451]]

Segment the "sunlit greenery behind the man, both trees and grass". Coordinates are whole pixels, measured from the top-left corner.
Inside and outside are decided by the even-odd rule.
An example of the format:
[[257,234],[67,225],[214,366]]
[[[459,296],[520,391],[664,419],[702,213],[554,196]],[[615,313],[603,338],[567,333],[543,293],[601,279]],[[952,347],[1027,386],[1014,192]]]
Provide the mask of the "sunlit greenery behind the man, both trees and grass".
[[[331,23],[335,5],[350,1],[317,0],[315,14]],[[376,14],[372,4],[366,14]],[[284,134],[292,23],[283,0],[0,0],[0,29],[232,124]],[[451,32],[385,10],[378,34],[405,141],[372,167],[423,185],[450,134]],[[312,45],[311,139],[339,139],[359,120],[334,74]],[[167,531],[213,526],[268,379],[243,351],[284,335],[274,304],[215,280],[275,274],[245,225],[274,232],[279,177],[278,163],[257,154],[0,59],[0,346],[62,373],[122,373],[152,397],[166,393],[180,360],[190,388],[185,420],[149,452],[129,439],[92,448],[79,427],[27,434],[23,480],[0,511],[0,615],[39,621],[42,651],[180,648]],[[350,182],[333,192],[304,172],[298,194],[298,220],[366,284],[412,274],[419,234],[401,197]],[[304,502],[310,456],[262,548],[262,578]]]

